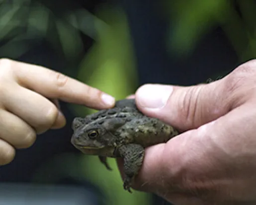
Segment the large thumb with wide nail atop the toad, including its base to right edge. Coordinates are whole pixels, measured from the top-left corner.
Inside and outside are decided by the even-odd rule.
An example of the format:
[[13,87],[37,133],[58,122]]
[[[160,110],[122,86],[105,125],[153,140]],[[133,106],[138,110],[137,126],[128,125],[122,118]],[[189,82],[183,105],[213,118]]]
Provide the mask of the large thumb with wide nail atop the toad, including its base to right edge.
[[144,85],[135,94],[136,104],[145,114],[160,118],[179,130],[197,128],[255,96],[255,67],[256,60],[249,61],[210,84]]

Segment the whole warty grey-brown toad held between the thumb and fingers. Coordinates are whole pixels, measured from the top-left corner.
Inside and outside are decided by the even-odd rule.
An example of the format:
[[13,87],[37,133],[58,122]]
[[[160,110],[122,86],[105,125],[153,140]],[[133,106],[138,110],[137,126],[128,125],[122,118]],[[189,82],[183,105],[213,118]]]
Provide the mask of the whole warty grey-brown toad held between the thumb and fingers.
[[71,143],[84,154],[98,155],[107,169],[107,157],[124,158],[124,189],[138,173],[144,148],[165,143],[178,131],[159,119],[147,117],[135,105],[134,99],[118,101],[111,109],[100,110],[85,118],[76,117]]

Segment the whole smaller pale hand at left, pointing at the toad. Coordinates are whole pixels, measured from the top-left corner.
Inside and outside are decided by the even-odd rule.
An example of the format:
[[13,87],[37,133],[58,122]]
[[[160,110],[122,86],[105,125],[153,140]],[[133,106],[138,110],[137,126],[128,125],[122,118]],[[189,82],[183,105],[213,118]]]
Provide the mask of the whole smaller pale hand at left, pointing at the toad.
[[96,109],[115,104],[114,98],[63,74],[0,59],[0,165],[12,161],[14,148],[31,146],[36,134],[65,125],[58,99]]

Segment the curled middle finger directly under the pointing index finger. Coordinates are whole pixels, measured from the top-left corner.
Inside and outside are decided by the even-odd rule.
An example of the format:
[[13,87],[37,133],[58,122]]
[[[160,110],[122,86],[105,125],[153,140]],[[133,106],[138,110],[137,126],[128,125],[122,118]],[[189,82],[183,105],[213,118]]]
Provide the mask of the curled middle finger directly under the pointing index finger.
[[55,121],[59,121],[61,126],[66,122],[52,102],[17,84],[10,85],[9,92],[3,92],[2,103],[9,112],[23,119],[38,134],[51,128]]

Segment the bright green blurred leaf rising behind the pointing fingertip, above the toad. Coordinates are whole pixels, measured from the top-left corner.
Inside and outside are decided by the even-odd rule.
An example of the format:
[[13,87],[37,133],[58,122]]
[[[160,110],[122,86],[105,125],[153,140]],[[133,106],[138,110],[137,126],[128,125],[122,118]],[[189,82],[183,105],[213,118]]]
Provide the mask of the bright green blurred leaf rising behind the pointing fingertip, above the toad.
[[[137,87],[126,15],[120,8],[108,6],[98,9],[97,13],[104,23],[95,22],[97,39],[81,62],[78,79],[115,96],[116,99],[124,99],[134,93]],[[78,113],[88,112],[84,106],[79,108]]]

